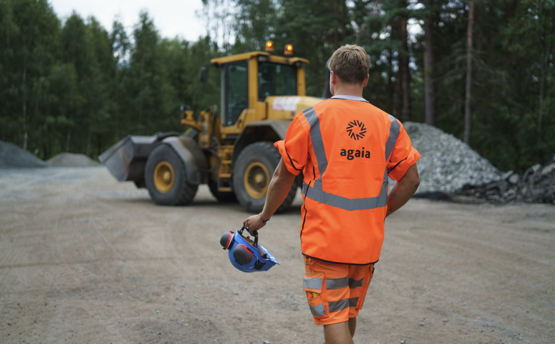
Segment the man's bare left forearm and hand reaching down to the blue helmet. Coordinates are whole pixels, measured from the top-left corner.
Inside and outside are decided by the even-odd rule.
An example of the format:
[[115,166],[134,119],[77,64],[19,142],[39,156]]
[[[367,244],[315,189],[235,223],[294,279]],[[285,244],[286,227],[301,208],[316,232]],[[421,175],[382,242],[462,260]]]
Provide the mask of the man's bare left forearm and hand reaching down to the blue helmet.
[[275,211],[278,210],[281,203],[283,203],[287,197],[294,181],[295,175],[287,170],[282,158],[274,172],[270,185],[268,185],[266,203],[264,204],[262,213],[250,216],[243,221],[243,226],[249,229],[250,234],[253,234],[255,230],[259,230],[261,227],[264,227],[265,222],[262,222],[260,216],[262,216],[264,220],[268,220],[272,215],[274,215]]

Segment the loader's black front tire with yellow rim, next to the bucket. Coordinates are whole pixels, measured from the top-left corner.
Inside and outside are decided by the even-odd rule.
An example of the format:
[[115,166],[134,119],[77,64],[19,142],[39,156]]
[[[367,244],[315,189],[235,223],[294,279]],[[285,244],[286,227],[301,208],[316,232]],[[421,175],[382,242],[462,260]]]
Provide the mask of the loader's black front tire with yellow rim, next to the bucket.
[[188,204],[198,189],[187,183],[183,160],[167,144],[154,148],[148,156],[144,183],[150,198],[160,205]]

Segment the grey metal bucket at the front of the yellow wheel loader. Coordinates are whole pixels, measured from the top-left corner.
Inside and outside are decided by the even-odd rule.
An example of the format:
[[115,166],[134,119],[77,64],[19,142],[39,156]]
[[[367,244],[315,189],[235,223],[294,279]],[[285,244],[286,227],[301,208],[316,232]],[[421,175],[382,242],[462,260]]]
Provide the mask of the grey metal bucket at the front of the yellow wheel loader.
[[98,156],[118,181],[144,182],[144,166],[152,150],[161,144],[158,136],[128,135]]

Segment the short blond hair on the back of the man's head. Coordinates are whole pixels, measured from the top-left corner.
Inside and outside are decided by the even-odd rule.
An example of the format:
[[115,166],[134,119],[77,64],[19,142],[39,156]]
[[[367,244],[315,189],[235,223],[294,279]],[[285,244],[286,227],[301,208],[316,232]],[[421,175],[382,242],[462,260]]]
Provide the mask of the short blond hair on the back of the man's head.
[[327,64],[327,69],[347,84],[364,82],[370,69],[370,59],[366,50],[359,45],[347,44],[335,50]]

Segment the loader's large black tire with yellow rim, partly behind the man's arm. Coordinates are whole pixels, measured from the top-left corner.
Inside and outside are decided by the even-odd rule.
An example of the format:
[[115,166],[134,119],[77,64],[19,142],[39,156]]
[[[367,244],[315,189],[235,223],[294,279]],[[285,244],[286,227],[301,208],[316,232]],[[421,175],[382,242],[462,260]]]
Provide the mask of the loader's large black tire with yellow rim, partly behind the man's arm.
[[[233,169],[233,189],[246,211],[260,213],[264,208],[266,191],[280,159],[278,149],[269,142],[251,143],[239,153]],[[294,182],[276,213],[289,209],[296,191]]]

